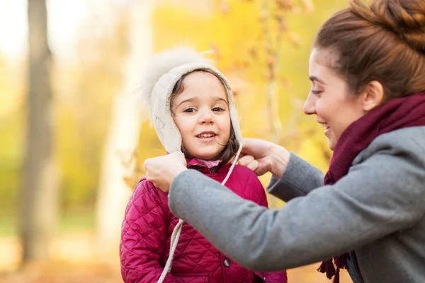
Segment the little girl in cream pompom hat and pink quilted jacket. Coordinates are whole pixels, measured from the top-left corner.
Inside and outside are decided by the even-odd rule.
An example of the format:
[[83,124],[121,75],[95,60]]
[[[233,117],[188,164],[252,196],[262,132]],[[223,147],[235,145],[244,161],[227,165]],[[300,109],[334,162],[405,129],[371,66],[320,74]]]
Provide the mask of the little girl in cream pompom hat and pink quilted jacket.
[[[225,76],[185,48],[157,54],[148,70],[144,95],[166,151],[182,151],[188,168],[266,207],[266,194],[255,173],[236,165],[242,134]],[[126,283],[287,282],[286,272],[246,270],[220,253],[171,214],[168,194],[145,178],[125,209],[120,259]]]

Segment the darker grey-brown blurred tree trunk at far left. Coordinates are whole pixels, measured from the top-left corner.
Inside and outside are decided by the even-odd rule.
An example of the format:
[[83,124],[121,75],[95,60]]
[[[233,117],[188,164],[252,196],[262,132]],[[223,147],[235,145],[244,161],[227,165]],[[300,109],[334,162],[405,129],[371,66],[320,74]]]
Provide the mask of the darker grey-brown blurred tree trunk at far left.
[[45,0],[28,0],[29,69],[26,154],[20,192],[23,262],[48,258],[57,216],[58,173],[52,129],[52,54]]

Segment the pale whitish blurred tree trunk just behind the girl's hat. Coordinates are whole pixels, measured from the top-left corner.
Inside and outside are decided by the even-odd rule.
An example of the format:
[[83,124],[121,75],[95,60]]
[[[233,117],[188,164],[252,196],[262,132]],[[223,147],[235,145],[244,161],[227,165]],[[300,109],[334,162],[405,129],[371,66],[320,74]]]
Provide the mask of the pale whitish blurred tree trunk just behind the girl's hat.
[[142,108],[137,101],[137,88],[140,88],[142,71],[152,53],[152,1],[134,1],[128,13],[129,53],[125,80],[123,91],[113,101],[98,189],[96,224],[101,253],[115,253],[118,248],[125,206],[132,192],[124,178],[134,170],[132,158],[140,133]]

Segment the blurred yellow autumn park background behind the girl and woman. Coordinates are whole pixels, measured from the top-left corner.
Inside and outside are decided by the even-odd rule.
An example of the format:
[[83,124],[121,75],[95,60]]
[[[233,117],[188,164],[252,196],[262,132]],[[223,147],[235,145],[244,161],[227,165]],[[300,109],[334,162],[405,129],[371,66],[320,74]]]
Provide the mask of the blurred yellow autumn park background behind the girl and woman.
[[[164,154],[137,100],[153,52],[211,50],[234,88],[244,137],[275,141],[326,171],[327,139],[302,103],[314,33],[346,5],[0,0],[0,282],[122,282],[123,209],[145,158]],[[49,162],[34,157],[43,152]],[[327,282],[316,267],[290,270],[290,282]]]

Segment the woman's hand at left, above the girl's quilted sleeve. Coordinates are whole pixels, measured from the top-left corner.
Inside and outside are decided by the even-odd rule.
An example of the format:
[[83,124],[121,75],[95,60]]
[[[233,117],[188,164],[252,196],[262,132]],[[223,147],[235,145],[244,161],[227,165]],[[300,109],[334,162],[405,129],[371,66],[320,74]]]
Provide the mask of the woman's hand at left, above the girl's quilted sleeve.
[[168,192],[176,175],[187,169],[186,159],[181,151],[176,151],[173,154],[146,159],[145,169],[146,180]]

